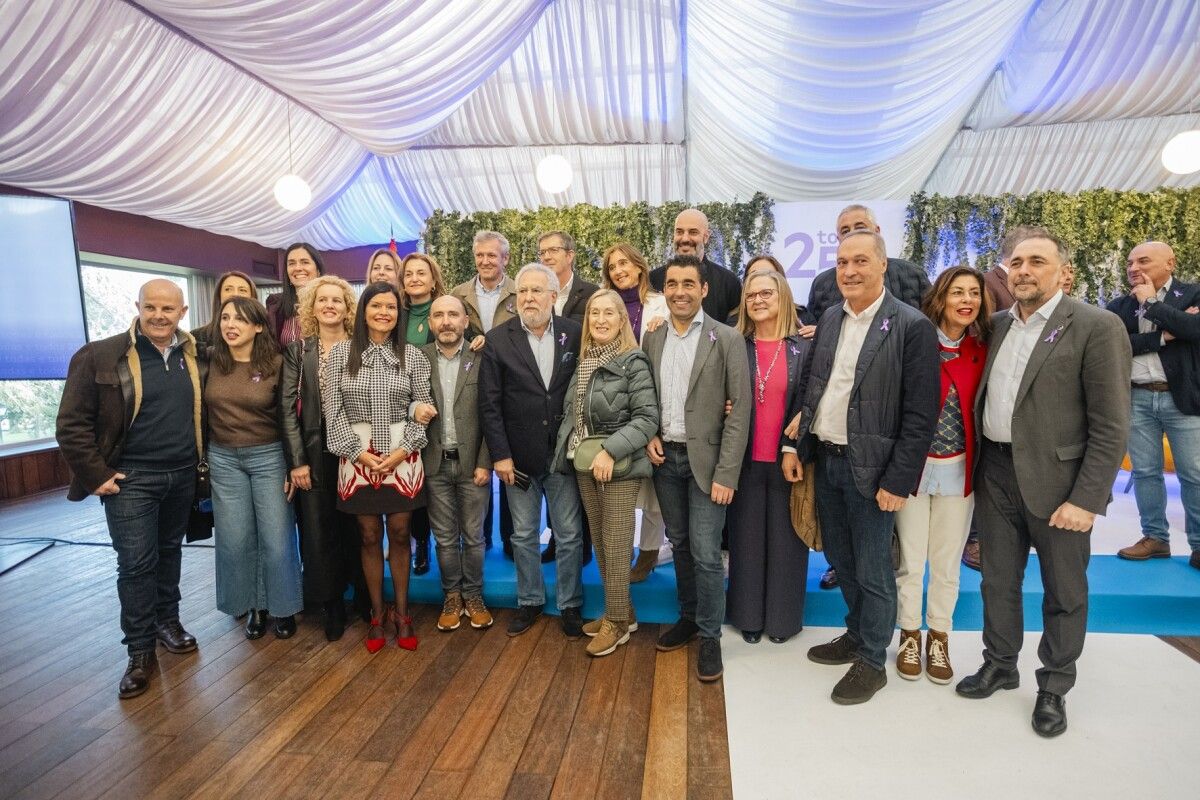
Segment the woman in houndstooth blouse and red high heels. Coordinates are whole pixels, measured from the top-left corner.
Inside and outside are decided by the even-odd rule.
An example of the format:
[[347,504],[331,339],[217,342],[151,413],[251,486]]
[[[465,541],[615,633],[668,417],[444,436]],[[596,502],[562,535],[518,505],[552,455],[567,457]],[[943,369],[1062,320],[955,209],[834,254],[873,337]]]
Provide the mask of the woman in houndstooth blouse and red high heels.
[[[409,419],[413,402],[433,403],[430,362],[404,341],[400,290],[372,283],[359,299],[354,335],[338,342],[325,365],[325,425],[329,451],[338,464],[337,507],[358,517],[362,572],[371,594],[366,646],[380,650],[389,638],[416,649],[408,613],[412,546],[409,517],[425,506],[421,447],[425,426]],[[383,602],[383,535],[395,606]]]

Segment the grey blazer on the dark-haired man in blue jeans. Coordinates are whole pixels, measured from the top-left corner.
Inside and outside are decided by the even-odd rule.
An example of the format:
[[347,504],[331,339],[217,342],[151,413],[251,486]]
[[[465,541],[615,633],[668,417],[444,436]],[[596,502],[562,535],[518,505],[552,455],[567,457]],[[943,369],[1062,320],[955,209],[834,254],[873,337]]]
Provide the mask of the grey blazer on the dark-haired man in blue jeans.
[[[662,348],[670,326],[668,319],[642,339],[642,349],[654,368],[660,393]],[[726,399],[733,401],[728,416],[725,415]],[[730,488],[738,487],[750,437],[750,363],[745,339],[732,327],[704,314],[696,360],[688,380],[684,427],[688,431],[691,474],[706,494],[713,491],[714,481]]]

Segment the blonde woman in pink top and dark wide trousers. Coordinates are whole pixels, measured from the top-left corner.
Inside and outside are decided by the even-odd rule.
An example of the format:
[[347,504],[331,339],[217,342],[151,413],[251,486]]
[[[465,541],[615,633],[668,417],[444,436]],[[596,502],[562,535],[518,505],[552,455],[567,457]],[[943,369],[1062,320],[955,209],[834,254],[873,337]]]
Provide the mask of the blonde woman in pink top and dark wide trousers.
[[796,535],[792,485],[781,467],[784,416],[802,393],[809,341],[800,338],[787,279],[756,271],[742,289],[738,330],[746,337],[752,403],[750,441],[730,506],[730,589],[726,609],[742,638],[766,633],[776,644],[804,625],[809,548]]

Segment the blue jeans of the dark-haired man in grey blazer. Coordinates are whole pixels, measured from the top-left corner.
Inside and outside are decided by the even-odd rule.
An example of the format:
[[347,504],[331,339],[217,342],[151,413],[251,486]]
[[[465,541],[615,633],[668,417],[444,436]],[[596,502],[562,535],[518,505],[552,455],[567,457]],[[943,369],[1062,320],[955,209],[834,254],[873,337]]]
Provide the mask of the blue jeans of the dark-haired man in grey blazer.
[[686,449],[664,443],[662,455],[666,461],[654,470],[654,492],[674,553],[679,616],[696,622],[702,637],[719,639],[725,621],[721,529],[728,506],[713,503],[696,483]]

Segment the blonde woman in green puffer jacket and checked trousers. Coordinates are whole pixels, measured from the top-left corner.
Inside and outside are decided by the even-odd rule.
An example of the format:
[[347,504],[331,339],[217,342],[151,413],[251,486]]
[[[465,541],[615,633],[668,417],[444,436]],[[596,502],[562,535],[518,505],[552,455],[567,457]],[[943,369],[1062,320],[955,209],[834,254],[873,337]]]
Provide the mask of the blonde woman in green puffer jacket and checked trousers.
[[566,390],[553,469],[575,471],[604,579],[604,616],[583,626],[588,654],[629,640],[637,619],[629,601],[634,506],[650,476],[646,445],[659,429],[649,359],[637,347],[625,303],[611,289],[588,299],[581,357]]

